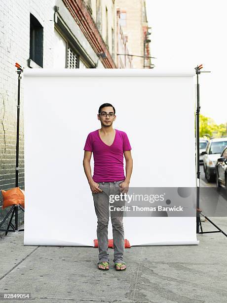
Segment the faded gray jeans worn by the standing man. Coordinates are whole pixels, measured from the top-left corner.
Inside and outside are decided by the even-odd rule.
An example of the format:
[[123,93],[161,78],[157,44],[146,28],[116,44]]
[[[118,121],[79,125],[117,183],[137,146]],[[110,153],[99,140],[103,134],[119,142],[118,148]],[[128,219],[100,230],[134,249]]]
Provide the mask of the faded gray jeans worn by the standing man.
[[[92,193],[95,212],[98,218],[97,238],[99,243],[99,262],[110,262],[108,251],[108,224],[111,213],[111,222],[113,227],[114,240],[114,263],[123,262],[124,253],[124,227],[123,227],[123,211],[111,211],[109,206],[124,206],[125,201],[114,201],[110,203],[110,195],[119,195],[121,181],[114,182],[97,182],[102,193]],[[112,208],[113,208],[112,206]],[[98,262],[98,263],[99,263]],[[97,263],[97,264],[98,264]]]

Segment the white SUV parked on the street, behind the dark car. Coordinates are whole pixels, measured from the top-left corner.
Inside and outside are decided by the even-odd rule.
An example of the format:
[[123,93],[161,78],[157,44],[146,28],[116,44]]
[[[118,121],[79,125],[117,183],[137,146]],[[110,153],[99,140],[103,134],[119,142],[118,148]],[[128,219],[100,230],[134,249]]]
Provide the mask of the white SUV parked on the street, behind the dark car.
[[208,182],[211,182],[215,179],[215,165],[226,146],[227,137],[214,138],[211,139],[207,144],[206,151],[201,153],[201,155],[203,156],[203,169],[205,172],[205,178]]

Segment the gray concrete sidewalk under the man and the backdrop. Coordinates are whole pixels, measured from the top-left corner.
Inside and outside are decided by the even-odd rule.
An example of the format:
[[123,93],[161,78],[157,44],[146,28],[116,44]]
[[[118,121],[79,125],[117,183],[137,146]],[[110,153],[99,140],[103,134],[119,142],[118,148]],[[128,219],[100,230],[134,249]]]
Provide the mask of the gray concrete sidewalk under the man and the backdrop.
[[[211,218],[227,232],[227,218]],[[216,230],[202,222],[204,231]],[[23,228],[22,226],[20,228]],[[0,302],[226,303],[227,238],[197,235],[199,245],[125,250],[127,270],[97,268],[98,249],[24,246],[23,232],[0,239],[0,292],[31,293]],[[113,260],[112,249],[108,250]]]

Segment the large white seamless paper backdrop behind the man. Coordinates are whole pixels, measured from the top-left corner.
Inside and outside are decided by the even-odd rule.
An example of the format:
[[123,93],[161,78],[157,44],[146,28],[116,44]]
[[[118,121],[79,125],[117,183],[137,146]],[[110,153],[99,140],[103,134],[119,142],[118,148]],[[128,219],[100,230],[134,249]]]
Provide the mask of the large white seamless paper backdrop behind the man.
[[[112,103],[128,135],[130,187],[196,186],[193,73],[26,69],[24,245],[94,246],[97,217],[83,147]],[[93,170],[93,156],[91,161]],[[198,244],[196,217],[124,217],[133,245]],[[111,219],[109,239],[113,239]]]

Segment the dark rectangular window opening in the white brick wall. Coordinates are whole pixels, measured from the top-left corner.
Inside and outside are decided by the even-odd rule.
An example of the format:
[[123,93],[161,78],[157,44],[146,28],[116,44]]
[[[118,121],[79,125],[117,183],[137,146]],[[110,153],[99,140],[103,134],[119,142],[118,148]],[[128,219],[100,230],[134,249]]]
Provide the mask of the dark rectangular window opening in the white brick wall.
[[43,67],[43,27],[30,14],[30,59]]

